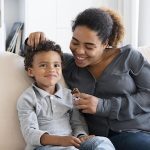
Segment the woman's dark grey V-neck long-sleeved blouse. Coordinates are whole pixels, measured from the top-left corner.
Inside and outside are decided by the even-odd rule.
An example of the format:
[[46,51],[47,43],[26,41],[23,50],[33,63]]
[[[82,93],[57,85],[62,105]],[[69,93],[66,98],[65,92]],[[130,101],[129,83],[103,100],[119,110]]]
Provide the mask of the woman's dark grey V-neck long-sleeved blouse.
[[99,98],[96,114],[84,114],[90,134],[150,132],[150,64],[130,45],[121,48],[97,80],[68,54],[63,74],[71,89]]

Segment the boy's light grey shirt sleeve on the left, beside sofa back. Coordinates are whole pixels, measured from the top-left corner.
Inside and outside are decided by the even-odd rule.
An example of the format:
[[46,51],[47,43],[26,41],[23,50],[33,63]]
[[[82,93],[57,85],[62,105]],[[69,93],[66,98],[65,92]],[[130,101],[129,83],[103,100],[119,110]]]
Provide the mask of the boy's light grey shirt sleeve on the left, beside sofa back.
[[35,105],[34,94],[26,90],[17,102],[17,111],[26,143],[32,146],[40,146],[40,138],[47,131],[39,129]]

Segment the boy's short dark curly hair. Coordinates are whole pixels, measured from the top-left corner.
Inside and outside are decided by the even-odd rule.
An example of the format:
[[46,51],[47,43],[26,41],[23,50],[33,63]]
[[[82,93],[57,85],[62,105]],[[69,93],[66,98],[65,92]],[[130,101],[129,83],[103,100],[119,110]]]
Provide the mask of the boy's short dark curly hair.
[[33,57],[37,53],[48,52],[48,51],[57,52],[60,55],[61,60],[63,62],[63,53],[61,51],[61,47],[58,44],[56,44],[54,41],[51,41],[51,40],[42,41],[37,45],[36,48],[26,45],[25,46],[25,54],[24,54],[25,70],[27,71],[29,67],[32,67]]

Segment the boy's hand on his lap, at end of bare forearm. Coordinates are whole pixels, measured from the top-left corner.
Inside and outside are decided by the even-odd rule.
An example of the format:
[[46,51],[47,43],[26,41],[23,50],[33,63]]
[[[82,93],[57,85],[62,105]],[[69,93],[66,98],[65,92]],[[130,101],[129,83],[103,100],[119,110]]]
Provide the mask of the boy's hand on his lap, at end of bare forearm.
[[80,147],[81,141],[75,136],[60,136],[60,145],[61,146],[75,146]]

